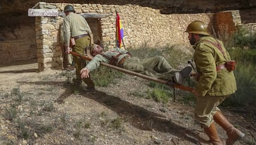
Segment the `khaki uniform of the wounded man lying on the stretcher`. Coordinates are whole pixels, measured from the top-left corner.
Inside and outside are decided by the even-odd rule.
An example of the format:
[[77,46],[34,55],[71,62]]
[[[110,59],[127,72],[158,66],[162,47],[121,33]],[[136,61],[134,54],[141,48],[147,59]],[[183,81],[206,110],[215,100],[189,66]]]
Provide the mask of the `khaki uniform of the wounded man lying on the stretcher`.
[[[119,55],[121,53],[121,55]],[[140,59],[137,57],[129,57],[127,50],[116,48],[112,51],[104,52],[103,55],[95,55],[95,57],[88,63],[86,68],[89,72],[100,66],[100,62],[109,63],[109,58],[112,56],[117,56],[117,66],[128,69],[130,71],[139,72],[141,74],[146,74],[147,76],[155,77],[163,80],[172,80],[175,72],[178,72],[176,69],[173,69],[171,65],[161,56],[156,56],[152,58]],[[124,57],[126,60],[121,65],[121,61]]]

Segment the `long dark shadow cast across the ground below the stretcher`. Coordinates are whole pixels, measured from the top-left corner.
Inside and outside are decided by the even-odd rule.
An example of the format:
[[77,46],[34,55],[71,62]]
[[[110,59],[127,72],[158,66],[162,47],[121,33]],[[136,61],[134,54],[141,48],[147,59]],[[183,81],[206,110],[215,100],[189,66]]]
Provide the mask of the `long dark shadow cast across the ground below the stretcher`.
[[[69,89],[70,88],[67,88],[66,92],[62,93],[62,95],[55,101],[58,103],[64,103],[64,100],[72,94]],[[80,95],[106,106],[106,108],[116,112],[122,117],[122,119],[140,130],[156,130],[163,133],[171,133],[174,136],[195,144],[197,141],[207,143],[205,139],[201,138],[197,133],[194,133],[194,131],[188,130],[187,128],[171,122],[171,119],[168,120],[161,114],[150,112],[145,108],[121,100],[117,96],[108,95],[105,92],[100,91],[96,91],[95,94],[88,94],[84,92],[80,93]]]

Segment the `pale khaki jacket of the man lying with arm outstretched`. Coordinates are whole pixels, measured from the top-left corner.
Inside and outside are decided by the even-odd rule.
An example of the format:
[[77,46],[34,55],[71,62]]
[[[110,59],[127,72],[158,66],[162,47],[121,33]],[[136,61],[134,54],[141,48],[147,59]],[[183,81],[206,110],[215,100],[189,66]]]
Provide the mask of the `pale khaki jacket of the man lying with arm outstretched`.
[[[103,52],[103,54],[97,54],[95,55],[95,57],[88,63],[87,66],[85,66],[85,68],[89,69],[89,72],[93,71],[94,69],[98,68],[100,66],[100,63],[108,63],[109,59],[112,56],[117,56],[119,53],[121,53],[121,55],[119,55],[118,57],[118,61],[119,62],[122,58],[124,58],[125,56],[127,56],[127,50],[124,49],[119,49],[119,48],[115,48],[113,50],[108,50],[106,52]],[[105,57],[104,57],[105,55]]]

